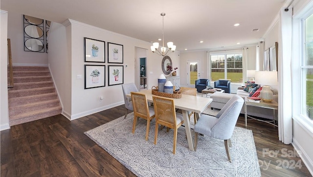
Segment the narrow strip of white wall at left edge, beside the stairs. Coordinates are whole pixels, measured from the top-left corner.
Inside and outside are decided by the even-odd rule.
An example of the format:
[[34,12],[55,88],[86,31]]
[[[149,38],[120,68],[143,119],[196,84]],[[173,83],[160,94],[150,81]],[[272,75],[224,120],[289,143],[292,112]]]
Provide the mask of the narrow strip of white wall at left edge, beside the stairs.
[[0,27],[0,130],[9,129],[9,106],[8,106],[8,80],[7,80],[7,22],[8,12],[0,11],[1,27]]

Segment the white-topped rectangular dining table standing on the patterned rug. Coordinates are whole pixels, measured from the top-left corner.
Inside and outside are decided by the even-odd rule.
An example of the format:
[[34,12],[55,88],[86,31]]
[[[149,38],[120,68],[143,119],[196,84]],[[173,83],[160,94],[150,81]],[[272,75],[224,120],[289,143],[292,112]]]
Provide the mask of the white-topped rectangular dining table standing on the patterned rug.
[[[147,96],[147,101],[151,103],[153,103],[152,97],[157,96],[152,94],[151,89],[143,89],[138,92],[145,94]],[[126,96],[131,97],[131,94],[126,94]],[[199,119],[200,114],[210,105],[213,99],[185,94],[182,94],[181,98],[169,98],[169,99],[173,99],[175,108],[180,109],[182,111],[189,150],[194,151],[195,148],[192,140],[192,134],[194,134],[194,131],[192,131],[190,128],[188,111],[195,112],[196,118]]]

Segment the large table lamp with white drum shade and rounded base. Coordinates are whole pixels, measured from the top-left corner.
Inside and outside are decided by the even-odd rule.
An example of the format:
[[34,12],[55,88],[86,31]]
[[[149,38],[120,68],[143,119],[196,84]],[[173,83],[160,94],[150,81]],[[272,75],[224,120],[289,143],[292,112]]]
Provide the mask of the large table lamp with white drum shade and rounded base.
[[277,86],[277,71],[255,71],[256,84],[263,85],[260,93],[261,100],[264,102],[273,101],[273,92],[269,86]]

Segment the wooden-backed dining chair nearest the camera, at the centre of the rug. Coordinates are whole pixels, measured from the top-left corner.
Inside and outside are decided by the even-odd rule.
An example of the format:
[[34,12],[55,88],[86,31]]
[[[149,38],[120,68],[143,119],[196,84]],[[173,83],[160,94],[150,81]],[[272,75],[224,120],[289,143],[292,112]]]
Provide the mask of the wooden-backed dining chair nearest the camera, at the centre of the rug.
[[184,123],[181,113],[175,111],[174,100],[165,97],[153,96],[153,104],[156,113],[156,133],[157,140],[158,125],[162,125],[174,130],[173,154],[176,152],[177,130]]

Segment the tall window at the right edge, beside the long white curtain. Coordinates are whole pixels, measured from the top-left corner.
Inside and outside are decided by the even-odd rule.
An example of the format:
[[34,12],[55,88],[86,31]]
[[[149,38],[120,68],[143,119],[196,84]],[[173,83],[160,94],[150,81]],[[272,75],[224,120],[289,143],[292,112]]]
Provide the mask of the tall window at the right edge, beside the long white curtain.
[[301,113],[313,120],[313,14],[303,21],[303,61],[301,66],[301,95],[303,105]]

